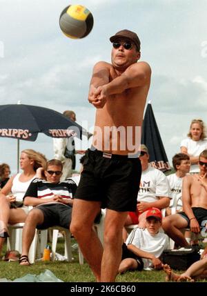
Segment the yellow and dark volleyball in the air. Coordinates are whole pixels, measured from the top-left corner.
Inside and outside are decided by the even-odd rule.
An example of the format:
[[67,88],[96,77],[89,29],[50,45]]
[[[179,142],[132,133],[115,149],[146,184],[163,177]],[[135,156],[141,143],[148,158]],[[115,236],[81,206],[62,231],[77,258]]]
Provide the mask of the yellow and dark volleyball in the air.
[[92,13],[86,6],[67,6],[59,17],[59,26],[69,38],[80,39],[86,37],[92,30]]

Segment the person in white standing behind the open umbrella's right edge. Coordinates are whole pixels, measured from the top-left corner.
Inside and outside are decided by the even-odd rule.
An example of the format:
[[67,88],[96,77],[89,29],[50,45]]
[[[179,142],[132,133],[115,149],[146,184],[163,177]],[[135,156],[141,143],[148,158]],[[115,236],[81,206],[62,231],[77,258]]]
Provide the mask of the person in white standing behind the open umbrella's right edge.
[[[68,117],[72,121],[76,121],[75,112],[72,110],[66,110],[63,115]],[[75,153],[83,154],[84,150],[75,150],[75,141],[73,137],[68,139],[59,138],[53,139],[53,148],[55,152],[55,159],[59,159],[63,164],[63,174],[61,175],[61,181],[72,176],[72,170],[75,170],[76,159]]]

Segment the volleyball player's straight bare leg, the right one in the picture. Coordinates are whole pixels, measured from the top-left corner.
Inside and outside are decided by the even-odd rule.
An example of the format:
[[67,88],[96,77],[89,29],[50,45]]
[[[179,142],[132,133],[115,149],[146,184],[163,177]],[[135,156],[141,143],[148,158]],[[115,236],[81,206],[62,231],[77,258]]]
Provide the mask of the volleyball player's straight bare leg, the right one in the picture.
[[115,282],[122,254],[122,230],[128,212],[106,211],[101,282]]

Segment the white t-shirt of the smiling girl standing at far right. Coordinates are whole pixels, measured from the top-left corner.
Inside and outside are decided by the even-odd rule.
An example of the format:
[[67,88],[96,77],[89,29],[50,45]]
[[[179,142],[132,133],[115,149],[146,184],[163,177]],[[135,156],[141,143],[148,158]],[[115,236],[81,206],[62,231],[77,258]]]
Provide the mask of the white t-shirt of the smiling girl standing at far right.
[[[199,156],[202,151],[207,149],[207,140],[193,141],[193,139],[187,138],[181,141],[181,147],[186,147],[188,150],[188,155]],[[197,164],[192,164],[190,166],[190,172],[199,172],[199,166]]]

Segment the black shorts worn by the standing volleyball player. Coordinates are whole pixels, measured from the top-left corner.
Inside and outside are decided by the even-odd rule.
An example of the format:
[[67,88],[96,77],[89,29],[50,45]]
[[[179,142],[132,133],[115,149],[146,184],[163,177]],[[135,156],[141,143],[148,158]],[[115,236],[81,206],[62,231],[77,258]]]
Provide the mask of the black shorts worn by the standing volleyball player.
[[135,211],[141,178],[138,157],[104,157],[99,150],[88,149],[75,198],[101,201],[101,208],[119,212]]

